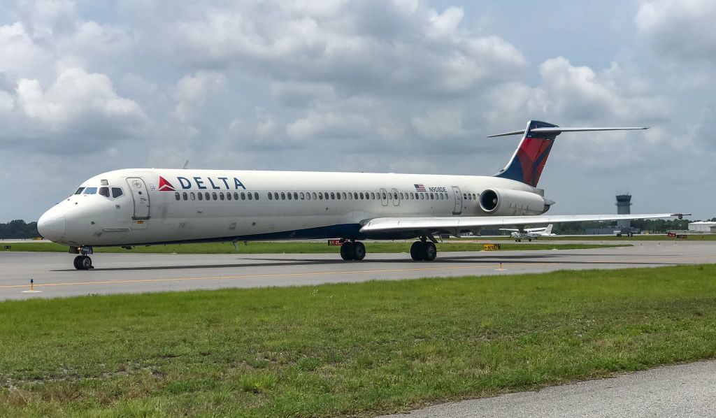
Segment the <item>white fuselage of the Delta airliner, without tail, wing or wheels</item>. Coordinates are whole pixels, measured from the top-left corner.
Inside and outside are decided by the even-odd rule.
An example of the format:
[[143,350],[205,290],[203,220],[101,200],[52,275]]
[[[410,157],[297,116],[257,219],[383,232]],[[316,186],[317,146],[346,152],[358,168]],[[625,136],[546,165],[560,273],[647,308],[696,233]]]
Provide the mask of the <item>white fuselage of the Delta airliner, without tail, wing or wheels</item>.
[[[541,193],[484,176],[156,169],[105,172],[81,188],[42,216],[46,238],[69,246],[412,238],[367,236],[359,229],[379,217],[486,215],[478,197],[487,188]],[[122,194],[114,197],[116,189]],[[504,210],[544,211],[517,205]]]

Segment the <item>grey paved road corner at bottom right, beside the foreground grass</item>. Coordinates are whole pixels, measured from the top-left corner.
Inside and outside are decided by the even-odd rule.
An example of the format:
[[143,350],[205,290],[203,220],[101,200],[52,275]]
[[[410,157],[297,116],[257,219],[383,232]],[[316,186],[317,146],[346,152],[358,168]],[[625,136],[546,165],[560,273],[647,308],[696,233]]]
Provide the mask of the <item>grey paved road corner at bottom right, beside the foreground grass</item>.
[[716,361],[440,404],[386,417],[716,417]]

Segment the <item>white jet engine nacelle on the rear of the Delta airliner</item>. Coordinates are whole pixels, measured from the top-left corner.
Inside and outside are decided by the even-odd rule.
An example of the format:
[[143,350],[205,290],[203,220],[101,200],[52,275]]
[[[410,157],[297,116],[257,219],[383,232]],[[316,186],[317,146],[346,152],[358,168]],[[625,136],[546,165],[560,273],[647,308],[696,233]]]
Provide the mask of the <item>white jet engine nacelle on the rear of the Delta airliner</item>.
[[536,193],[487,189],[480,194],[480,208],[489,215],[541,215],[549,209],[549,205]]

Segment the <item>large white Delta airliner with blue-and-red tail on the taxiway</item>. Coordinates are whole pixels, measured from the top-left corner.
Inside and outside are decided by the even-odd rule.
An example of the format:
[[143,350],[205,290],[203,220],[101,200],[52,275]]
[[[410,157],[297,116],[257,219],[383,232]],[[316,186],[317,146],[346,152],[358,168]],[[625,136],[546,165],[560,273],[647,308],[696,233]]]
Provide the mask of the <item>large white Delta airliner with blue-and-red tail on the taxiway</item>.
[[363,172],[124,169],[104,172],[39,218],[48,240],[94,268],[95,247],[275,239],[339,239],[341,257],[366,256],[360,240],[417,238],[414,261],[437,256],[436,233],[645,215],[543,215],[555,203],[537,183],[557,135],[644,127],[558,127],[531,120],[508,164],[493,176]]

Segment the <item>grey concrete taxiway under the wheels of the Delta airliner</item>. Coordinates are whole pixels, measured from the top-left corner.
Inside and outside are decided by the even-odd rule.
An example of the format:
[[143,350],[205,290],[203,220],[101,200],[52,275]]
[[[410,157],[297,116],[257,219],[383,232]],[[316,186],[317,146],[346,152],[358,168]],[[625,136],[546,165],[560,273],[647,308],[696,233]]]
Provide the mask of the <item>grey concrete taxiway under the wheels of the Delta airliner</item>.
[[[74,270],[73,256],[67,253],[1,252],[0,300],[716,263],[713,241],[634,244],[590,250],[442,252],[432,263],[387,253],[349,262],[337,253],[98,253],[92,256],[95,269],[90,271]],[[26,292],[31,279],[39,292]]]

